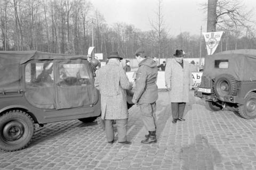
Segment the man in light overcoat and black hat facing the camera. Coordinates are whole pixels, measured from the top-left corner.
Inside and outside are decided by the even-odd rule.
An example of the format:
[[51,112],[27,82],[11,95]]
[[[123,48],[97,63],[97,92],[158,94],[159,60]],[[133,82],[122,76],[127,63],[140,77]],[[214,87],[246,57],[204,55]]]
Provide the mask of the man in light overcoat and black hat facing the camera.
[[177,49],[174,60],[167,61],[165,67],[165,84],[169,90],[172,108],[172,123],[185,121],[183,113],[189,101],[189,89],[192,89],[192,75],[189,63],[183,60],[185,53]]

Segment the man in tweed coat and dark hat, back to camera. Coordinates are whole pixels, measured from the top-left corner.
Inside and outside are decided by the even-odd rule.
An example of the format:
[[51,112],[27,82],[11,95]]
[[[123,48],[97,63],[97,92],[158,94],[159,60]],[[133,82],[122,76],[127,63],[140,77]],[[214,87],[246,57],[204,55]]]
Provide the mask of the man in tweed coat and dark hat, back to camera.
[[99,69],[95,78],[95,87],[101,94],[101,118],[105,120],[107,141],[114,142],[113,122],[116,121],[118,143],[122,145],[131,142],[126,140],[127,132],[127,103],[125,89],[131,89],[131,83],[120,65],[123,58],[117,52],[112,52],[108,57],[106,66]]

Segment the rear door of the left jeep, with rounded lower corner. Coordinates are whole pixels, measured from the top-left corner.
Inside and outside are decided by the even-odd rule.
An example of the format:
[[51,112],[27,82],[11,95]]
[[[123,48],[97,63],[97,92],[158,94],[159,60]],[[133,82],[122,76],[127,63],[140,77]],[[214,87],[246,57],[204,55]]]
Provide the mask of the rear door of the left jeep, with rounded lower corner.
[[25,66],[25,97],[43,109],[55,109],[55,80],[53,60],[29,61]]

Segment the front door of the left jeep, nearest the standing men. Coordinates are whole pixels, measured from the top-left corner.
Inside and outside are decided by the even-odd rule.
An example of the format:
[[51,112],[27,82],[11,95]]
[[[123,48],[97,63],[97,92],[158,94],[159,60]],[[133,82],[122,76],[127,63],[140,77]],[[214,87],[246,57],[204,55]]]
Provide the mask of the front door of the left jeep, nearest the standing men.
[[89,107],[97,103],[98,90],[87,60],[55,60],[55,66],[57,109]]

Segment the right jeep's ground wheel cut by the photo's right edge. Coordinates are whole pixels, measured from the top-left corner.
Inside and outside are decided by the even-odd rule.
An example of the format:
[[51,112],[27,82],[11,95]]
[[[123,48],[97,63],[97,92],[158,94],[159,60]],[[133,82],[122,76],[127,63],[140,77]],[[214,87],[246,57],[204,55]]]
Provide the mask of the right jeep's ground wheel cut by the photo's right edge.
[[256,94],[251,92],[246,98],[243,105],[238,106],[239,114],[246,118],[252,119],[256,117]]

